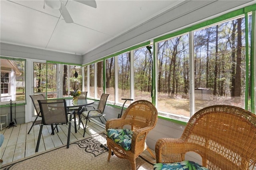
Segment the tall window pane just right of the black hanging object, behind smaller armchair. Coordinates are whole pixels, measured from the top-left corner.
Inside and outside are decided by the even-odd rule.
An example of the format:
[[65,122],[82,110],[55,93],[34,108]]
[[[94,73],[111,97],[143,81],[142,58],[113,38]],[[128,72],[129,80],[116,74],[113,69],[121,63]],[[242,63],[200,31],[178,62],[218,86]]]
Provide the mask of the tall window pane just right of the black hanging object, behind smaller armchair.
[[190,116],[188,34],[157,43],[158,110]]

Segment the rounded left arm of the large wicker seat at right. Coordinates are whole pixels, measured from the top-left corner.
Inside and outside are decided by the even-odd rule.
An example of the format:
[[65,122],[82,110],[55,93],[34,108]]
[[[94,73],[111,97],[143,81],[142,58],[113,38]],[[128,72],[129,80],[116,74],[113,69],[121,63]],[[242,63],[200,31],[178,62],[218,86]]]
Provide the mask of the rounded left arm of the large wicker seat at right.
[[160,138],[156,142],[156,163],[180,162],[184,160],[186,142],[181,138]]

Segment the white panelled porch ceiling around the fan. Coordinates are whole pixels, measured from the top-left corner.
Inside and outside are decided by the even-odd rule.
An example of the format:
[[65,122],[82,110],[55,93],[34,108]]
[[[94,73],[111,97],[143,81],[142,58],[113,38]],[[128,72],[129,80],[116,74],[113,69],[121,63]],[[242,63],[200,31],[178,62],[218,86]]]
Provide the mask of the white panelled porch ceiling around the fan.
[[74,23],[44,0],[0,0],[0,42],[83,55],[183,0],[64,0]]

